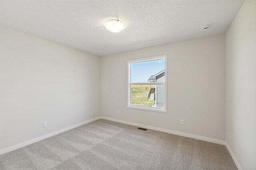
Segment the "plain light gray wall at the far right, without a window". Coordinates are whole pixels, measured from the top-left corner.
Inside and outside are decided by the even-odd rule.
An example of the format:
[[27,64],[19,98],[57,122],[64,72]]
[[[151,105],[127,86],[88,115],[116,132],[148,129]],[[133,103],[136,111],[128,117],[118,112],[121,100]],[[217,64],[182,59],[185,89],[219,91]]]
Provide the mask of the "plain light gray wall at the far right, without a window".
[[226,32],[226,143],[242,170],[256,169],[256,1]]

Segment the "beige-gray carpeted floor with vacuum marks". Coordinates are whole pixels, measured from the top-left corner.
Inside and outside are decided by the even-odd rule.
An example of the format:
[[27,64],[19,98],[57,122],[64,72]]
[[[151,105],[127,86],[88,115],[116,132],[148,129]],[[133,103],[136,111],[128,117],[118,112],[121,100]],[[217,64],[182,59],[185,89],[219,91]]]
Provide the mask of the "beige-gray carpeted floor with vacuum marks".
[[1,155],[0,169],[236,170],[224,145],[99,119]]

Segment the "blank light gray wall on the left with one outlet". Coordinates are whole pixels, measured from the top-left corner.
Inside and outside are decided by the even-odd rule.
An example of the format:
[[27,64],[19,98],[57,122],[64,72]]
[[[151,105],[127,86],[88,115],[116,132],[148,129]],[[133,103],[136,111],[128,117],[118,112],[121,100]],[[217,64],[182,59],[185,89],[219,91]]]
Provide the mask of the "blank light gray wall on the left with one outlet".
[[0,54],[1,149],[100,115],[100,57],[6,27]]

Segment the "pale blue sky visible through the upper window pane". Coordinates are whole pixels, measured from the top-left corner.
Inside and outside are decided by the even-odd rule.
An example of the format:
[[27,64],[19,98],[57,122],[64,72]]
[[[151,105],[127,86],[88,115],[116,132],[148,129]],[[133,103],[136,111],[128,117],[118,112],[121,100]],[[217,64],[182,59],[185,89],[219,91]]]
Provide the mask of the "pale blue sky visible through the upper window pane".
[[148,78],[165,69],[165,60],[132,63],[131,64],[131,82],[144,83]]

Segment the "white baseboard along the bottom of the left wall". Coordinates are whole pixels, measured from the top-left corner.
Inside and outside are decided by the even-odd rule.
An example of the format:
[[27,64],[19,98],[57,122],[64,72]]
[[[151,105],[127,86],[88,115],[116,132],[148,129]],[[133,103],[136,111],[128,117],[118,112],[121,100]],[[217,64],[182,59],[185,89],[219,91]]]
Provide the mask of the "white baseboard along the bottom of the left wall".
[[46,135],[43,135],[43,136],[40,136],[40,137],[31,139],[31,140],[29,140],[29,141],[26,141],[26,142],[23,142],[23,143],[14,145],[14,146],[12,146],[12,147],[8,147],[8,148],[6,148],[6,149],[2,149],[2,150],[0,150],[0,155],[1,155],[1,154],[4,154],[4,153],[7,153],[7,152],[10,152],[10,151],[12,151],[12,150],[16,150],[16,149],[25,147],[26,145],[30,145],[30,144],[32,144],[32,143],[41,141],[41,140],[46,139],[46,138],[48,138],[48,137],[52,137],[52,136],[54,136],[54,135],[58,135],[59,133],[68,131],[68,130],[70,130],[70,129],[74,129],[74,128],[78,127],[78,126],[82,126],[82,125],[84,125],[84,124],[90,123],[90,122],[92,122],[92,121],[96,121],[96,120],[98,120],[98,119],[100,119],[100,117],[95,117],[95,118],[90,119],[90,120],[88,120],[88,121],[84,121],[84,122],[82,122],[82,123],[78,123],[78,124],[76,124],[76,125],[72,125],[72,126],[70,126],[70,127],[66,127],[66,128],[64,128],[64,129],[60,129],[60,130],[55,131],[55,132],[52,132],[52,133],[48,133],[48,134],[46,134]]

